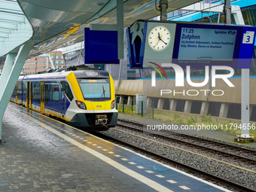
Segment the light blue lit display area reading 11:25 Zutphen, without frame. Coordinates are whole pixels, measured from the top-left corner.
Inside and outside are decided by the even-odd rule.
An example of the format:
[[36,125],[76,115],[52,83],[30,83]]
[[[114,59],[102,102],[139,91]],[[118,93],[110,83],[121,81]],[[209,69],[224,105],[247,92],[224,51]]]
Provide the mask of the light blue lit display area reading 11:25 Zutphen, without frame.
[[[236,29],[202,29],[181,27],[177,64],[232,63],[236,46]],[[227,65],[227,63],[226,63]]]

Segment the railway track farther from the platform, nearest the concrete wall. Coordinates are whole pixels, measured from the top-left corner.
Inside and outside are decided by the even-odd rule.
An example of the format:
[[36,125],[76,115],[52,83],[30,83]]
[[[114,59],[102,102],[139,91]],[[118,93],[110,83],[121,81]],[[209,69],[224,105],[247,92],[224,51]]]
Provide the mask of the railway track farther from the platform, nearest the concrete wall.
[[[127,123],[129,123],[129,125],[127,125]],[[199,148],[200,150],[210,151],[211,153],[213,152],[215,154],[221,154],[223,157],[230,157],[233,160],[235,159],[242,162],[251,163],[253,165],[256,164],[256,151],[248,148],[224,144],[222,142],[212,141],[209,139],[203,139],[197,136],[190,136],[184,133],[177,133],[172,131],[148,132],[143,130],[142,123],[136,123],[128,120],[118,119],[117,126],[120,126],[124,129],[133,130],[139,133],[148,133],[154,137],[160,137],[161,139],[166,139],[172,142],[178,142],[181,143],[182,145]],[[250,158],[245,157],[244,155],[250,156]]]

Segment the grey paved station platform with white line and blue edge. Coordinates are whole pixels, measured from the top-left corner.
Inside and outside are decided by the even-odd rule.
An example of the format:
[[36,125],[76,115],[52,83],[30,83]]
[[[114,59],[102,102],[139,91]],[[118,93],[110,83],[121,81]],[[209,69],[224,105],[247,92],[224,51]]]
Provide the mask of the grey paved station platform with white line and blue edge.
[[230,191],[9,103],[0,191]]

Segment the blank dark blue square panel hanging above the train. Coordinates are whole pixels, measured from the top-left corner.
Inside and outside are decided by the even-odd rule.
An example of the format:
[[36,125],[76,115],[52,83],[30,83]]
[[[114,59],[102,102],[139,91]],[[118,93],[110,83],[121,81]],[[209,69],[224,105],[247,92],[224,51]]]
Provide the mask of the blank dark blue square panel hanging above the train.
[[85,64],[119,64],[117,31],[84,29]]

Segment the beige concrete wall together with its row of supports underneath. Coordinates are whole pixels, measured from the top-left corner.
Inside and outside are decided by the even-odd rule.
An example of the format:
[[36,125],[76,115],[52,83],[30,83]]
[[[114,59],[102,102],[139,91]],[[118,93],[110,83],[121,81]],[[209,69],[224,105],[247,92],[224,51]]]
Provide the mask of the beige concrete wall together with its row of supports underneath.
[[[197,109],[196,111],[198,112],[196,113],[198,114],[193,115],[202,117],[203,113],[212,114],[212,110],[214,110],[215,114],[217,114],[218,118],[220,118],[219,120],[221,121],[227,121],[227,118],[233,118],[238,121],[240,119],[239,105],[241,105],[241,78],[233,78],[229,80],[234,87],[229,87],[222,79],[217,79],[216,87],[212,87],[210,89],[211,91],[209,96],[207,96],[208,92],[204,91],[209,90],[209,83],[203,87],[191,87],[185,80],[184,87],[175,87],[175,80],[157,80],[156,87],[151,87],[151,80],[124,80],[120,82],[118,92],[117,81],[114,81],[114,86],[116,95],[120,96],[121,99],[132,98],[132,96],[136,96],[136,94],[147,94],[148,108],[151,108],[154,100],[155,109],[160,110],[163,113],[173,114],[174,112],[177,112],[181,115],[180,117],[190,117],[191,111],[193,112],[193,109]],[[204,79],[193,79],[192,81],[194,83],[200,83],[203,82]],[[172,93],[162,94],[161,96],[160,90],[171,90]],[[222,90],[224,95],[212,95],[212,92],[215,95],[222,94],[222,92],[218,90]],[[197,91],[197,96],[190,96],[197,94]],[[166,99],[169,100],[165,102]],[[194,107],[192,107],[193,102]],[[200,105],[197,103],[200,103]],[[211,110],[209,110],[210,103],[215,103],[216,105],[218,104],[220,107],[215,108],[212,106],[210,108]],[[235,111],[233,109],[234,105],[236,107]],[[250,120],[255,120],[256,117],[255,110],[251,112],[253,107],[256,107],[256,78],[250,79]],[[163,110],[163,108],[165,108],[165,110]],[[215,114],[213,113],[213,116],[215,116]]]

